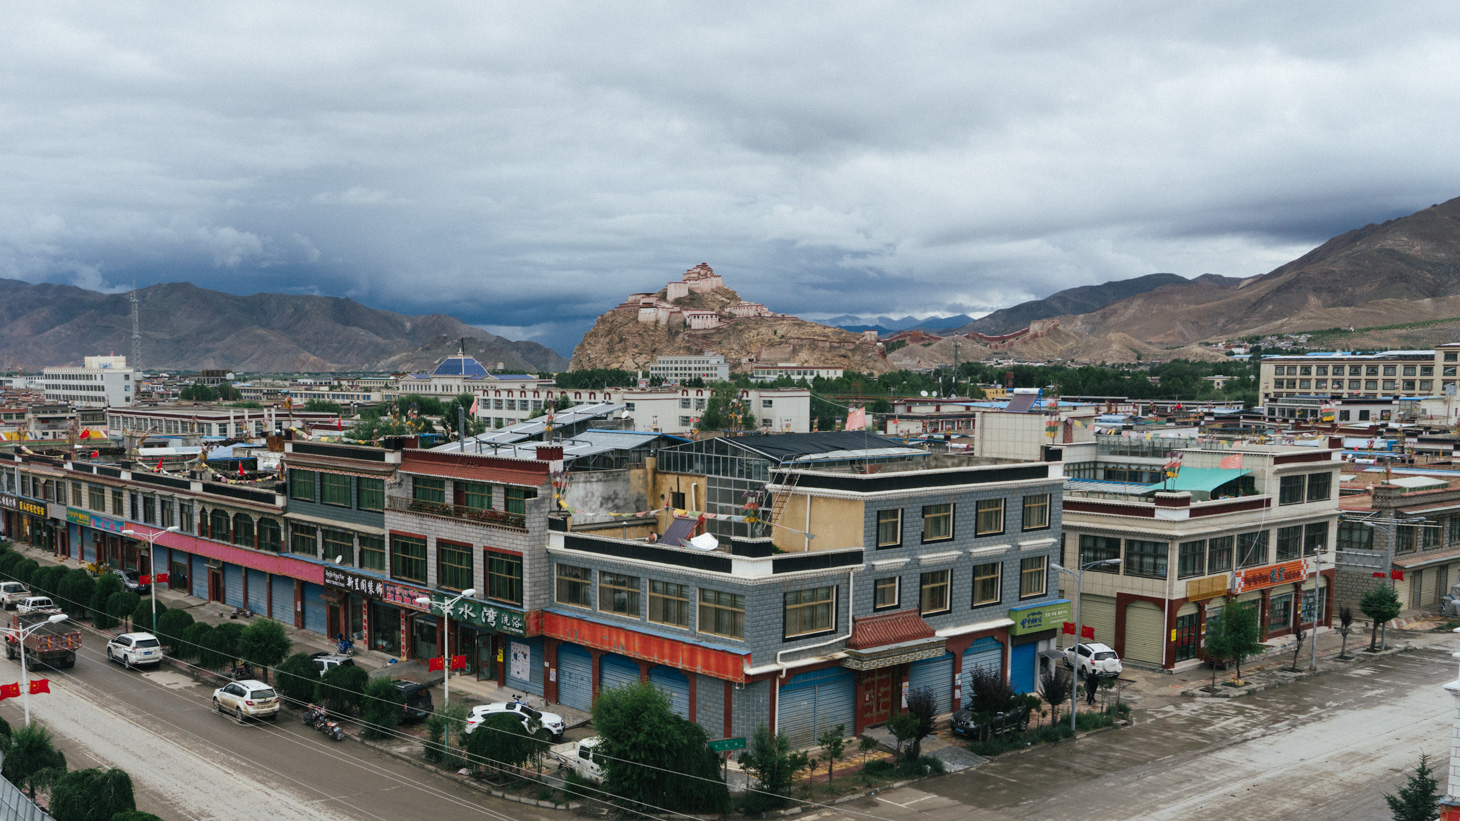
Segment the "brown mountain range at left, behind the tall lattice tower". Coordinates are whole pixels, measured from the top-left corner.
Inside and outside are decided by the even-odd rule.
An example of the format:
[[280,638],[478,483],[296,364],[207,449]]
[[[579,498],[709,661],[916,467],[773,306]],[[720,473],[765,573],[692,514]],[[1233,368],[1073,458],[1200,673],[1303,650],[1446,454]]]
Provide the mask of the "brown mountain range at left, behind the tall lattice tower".
[[[353,299],[286,294],[235,297],[190,283],[139,292],[142,365],[251,373],[423,370],[457,351],[508,370],[559,371],[556,352],[512,342],[444,314],[409,317]],[[127,294],[0,279],[0,359],[6,365],[80,364],[128,354]]]

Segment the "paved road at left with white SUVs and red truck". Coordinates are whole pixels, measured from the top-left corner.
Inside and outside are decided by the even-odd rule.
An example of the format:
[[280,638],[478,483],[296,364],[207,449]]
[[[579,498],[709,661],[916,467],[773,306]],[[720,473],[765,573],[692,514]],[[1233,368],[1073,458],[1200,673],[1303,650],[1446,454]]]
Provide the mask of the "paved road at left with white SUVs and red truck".
[[[127,770],[139,806],[169,821],[555,817],[353,741],[331,742],[288,713],[239,726],[212,711],[212,688],[168,671],[124,671],[105,660],[101,638],[88,634],[85,644],[74,669],[50,673],[51,694],[32,697],[31,714],[73,768]],[[18,678],[19,663],[0,660],[0,681]],[[12,725],[23,720],[19,700],[0,711]]]

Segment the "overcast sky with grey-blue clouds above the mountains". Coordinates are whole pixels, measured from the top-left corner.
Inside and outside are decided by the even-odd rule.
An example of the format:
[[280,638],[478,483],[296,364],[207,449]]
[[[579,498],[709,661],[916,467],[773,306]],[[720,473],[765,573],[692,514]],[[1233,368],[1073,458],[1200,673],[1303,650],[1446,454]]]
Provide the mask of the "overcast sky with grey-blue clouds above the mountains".
[[0,278],[568,354],[710,263],[807,318],[1253,276],[1460,196],[1456,3],[0,9]]

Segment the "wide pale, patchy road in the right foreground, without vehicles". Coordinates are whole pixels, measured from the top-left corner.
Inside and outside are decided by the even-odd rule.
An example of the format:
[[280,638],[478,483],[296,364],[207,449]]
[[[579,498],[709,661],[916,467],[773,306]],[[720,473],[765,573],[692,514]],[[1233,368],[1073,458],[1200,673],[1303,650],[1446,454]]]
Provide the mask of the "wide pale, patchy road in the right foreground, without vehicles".
[[1415,650],[1238,700],[1183,701],[1130,729],[1032,749],[812,814],[1044,818],[1387,820],[1383,793],[1421,752],[1448,758],[1447,652]]

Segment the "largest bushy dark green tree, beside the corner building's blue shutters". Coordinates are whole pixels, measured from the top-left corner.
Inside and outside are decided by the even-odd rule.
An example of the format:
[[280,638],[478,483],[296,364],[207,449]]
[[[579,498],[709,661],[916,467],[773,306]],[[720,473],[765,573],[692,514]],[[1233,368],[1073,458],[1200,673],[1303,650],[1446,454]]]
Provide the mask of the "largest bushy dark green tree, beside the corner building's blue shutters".
[[[629,808],[723,812],[730,793],[705,730],[675,713],[651,684],[615,687],[593,704],[604,784]],[[708,779],[708,780],[704,780]]]

